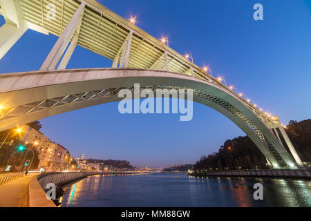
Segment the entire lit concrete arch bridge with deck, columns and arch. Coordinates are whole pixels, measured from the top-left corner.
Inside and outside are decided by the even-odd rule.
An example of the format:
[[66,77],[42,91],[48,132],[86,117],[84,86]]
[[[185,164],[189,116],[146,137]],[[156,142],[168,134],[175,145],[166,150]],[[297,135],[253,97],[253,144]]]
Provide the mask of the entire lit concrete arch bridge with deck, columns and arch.
[[[277,117],[269,117],[211,71],[94,0],[0,0],[0,59],[28,29],[59,39],[40,70],[0,75],[0,131],[79,108],[120,100],[122,88],[191,88],[194,101],[241,128],[274,168],[303,167]],[[79,45],[111,68],[68,70]]]

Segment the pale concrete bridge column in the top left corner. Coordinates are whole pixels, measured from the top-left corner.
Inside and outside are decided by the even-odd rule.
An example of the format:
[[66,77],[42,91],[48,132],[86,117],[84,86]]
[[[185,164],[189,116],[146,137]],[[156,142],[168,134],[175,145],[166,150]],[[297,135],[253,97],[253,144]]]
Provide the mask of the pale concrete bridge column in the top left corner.
[[6,23],[0,28],[0,59],[15,45],[28,29],[23,19],[19,1],[0,0],[2,14]]

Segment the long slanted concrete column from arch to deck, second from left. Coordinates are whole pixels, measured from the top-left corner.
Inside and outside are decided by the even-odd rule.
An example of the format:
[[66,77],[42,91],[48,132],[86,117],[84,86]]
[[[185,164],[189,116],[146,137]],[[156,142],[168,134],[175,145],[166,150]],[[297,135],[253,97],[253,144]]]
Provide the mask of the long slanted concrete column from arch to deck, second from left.
[[[73,37],[73,34],[77,30],[79,24],[82,21],[82,16],[85,8],[85,2],[82,1],[79,8],[73,15],[73,18],[69,21],[68,25],[66,26],[64,32],[62,32],[62,35],[59,37],[59,39],[56,41],[54,47],[48,54],[48,57],[46,57],[46,60],[44,61],[44,64],[42,64],[40,70],[54,70],[62,57],[64,50],[69,44],[70,39]],[[68,52],[68,55],[70,52]],[[69,60],[70,57],[68,57]],[[66,63],[64,60],[63,66]]]

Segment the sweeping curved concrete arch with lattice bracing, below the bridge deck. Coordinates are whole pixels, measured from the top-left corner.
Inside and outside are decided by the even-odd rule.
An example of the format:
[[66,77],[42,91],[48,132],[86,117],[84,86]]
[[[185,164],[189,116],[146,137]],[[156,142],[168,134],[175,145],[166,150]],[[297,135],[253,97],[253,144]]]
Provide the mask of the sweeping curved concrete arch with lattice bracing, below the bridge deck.
[[278,121],[266,122],[241,97],[212,81],[164,70],[93,68],[3,74],[0,76],[3,107],[0,131],[59,113],[118,101],[121,98],[117,93],[122,88],[133,90],[138,83],[141,89],[193,89],[194,102],[214,108],[231,119],[274,168],[302,166],[296,160],[296,151],[288,148],[288,137]]

